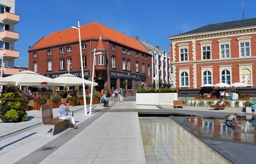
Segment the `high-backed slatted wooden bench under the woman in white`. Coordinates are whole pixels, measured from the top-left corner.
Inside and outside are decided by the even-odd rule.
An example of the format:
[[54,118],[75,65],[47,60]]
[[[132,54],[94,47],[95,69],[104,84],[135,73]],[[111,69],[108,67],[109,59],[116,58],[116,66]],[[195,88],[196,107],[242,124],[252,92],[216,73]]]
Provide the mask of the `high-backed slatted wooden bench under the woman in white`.
[[60,118],[53,118],[53,107],[51,104],[42,105],[42,124],[53,125],[52,135],[56,135],[68,128],[69,121]]

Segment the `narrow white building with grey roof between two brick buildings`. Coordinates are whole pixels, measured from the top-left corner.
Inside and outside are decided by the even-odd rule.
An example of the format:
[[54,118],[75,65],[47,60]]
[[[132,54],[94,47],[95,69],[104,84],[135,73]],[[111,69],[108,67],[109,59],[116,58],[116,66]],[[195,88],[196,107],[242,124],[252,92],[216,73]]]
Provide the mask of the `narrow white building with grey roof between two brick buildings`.
[[153,46],[146,41],[140,40],[138,36],[136,36],[136,40],[152,55],[151,72],[153,76],[151,80],[154,88],[170,88],[172,86],[172,74],[170,57],[167,56],[166,50],[160,50],[159,46]]

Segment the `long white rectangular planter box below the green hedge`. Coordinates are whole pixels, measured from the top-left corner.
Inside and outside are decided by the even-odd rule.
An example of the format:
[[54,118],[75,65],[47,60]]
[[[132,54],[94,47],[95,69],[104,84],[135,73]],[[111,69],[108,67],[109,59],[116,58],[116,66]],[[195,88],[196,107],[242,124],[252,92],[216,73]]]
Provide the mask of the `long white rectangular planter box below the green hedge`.
[[178,100],[177,93],[137,93],[137,105],[173,105]]

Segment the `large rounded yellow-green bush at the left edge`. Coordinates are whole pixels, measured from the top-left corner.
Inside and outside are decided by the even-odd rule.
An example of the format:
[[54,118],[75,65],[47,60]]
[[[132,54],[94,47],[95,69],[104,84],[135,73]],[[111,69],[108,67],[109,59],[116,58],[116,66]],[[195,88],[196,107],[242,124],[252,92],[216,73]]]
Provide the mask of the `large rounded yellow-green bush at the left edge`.
[[1,95],[0,118],[3,122],[23,122],[27,120],[26,106],[14,85],[6,85]]

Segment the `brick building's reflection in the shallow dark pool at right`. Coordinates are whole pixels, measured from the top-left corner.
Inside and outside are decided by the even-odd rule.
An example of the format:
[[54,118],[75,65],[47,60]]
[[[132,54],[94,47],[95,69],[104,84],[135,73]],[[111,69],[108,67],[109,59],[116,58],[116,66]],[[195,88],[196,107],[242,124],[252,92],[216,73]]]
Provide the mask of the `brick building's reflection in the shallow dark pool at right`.
[[[228,116],[225,115],[221,118],[189,118],[188,125],[193,128],[199,137],[221,138],[249,143],[256,142],[256,128],[252,115],[238,116],[239,124],[235,126],[227,126],[225,124]],[[245,132],[246,121],[250,123],[248,133]]]

